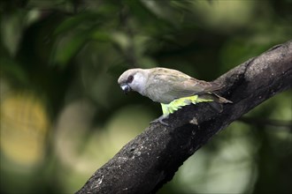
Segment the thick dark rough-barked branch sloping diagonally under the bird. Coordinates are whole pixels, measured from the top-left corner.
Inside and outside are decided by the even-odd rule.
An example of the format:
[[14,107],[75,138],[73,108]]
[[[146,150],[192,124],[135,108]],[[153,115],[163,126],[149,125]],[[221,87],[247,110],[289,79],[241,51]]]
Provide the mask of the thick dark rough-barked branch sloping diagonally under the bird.
[[96,170],[77,193],[155,193],[182,163],[250,109],[292,87],[292,41],[251,58],[218,78],[219,94],[233,101],[222,113],[205,103],[187,106],[151,124]]

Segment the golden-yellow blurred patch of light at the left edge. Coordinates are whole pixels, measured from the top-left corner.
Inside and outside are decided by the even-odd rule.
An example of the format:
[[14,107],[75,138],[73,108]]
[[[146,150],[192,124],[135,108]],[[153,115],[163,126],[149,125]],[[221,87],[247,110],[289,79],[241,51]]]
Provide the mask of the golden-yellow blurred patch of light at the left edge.
[[34,165],[44,155],[49,121],[42,102],[27,93],[1,101],[1,151],[20,165]]

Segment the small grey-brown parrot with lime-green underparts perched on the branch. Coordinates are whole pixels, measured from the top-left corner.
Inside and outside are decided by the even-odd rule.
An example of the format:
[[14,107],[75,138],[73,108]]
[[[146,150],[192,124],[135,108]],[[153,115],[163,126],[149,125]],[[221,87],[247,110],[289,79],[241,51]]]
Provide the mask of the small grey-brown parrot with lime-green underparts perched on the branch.
[[118,84],[124,93],[134,91],[161,104],[163,115],[151,123],[168,125],[163,121],[165,118],[190,104],[209,102],[212,108],[221,112],[222,104],[233,103],[214,93],[223,87],[219,83],[163,67],[129,69],[119,76]]

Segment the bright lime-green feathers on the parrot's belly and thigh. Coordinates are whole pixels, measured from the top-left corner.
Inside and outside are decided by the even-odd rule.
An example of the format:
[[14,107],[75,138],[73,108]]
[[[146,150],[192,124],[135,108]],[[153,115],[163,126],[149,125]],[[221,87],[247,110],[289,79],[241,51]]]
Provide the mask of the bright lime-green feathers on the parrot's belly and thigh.
[[190,104],[197,104],[200,102],[209,102],[209,101],[213,101],[213,100],[202,99],[202,98],[199,98],[198,95],[193,95],[193,96],[176,99],[170,102],[169,104],[161,103],[161,108],[162,108],[163,116],[168,116],[169,114],[173,114],[176,110],[184,106],[187,106]]

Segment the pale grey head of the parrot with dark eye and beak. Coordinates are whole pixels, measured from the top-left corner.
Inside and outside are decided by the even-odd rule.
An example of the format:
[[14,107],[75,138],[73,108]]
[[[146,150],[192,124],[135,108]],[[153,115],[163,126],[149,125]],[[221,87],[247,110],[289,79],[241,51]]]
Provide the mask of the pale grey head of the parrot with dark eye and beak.
[[135,91],[142,93],[148,79],[148,71],[142,69],[130,69],[119,76],[118,83],[124,93]]

